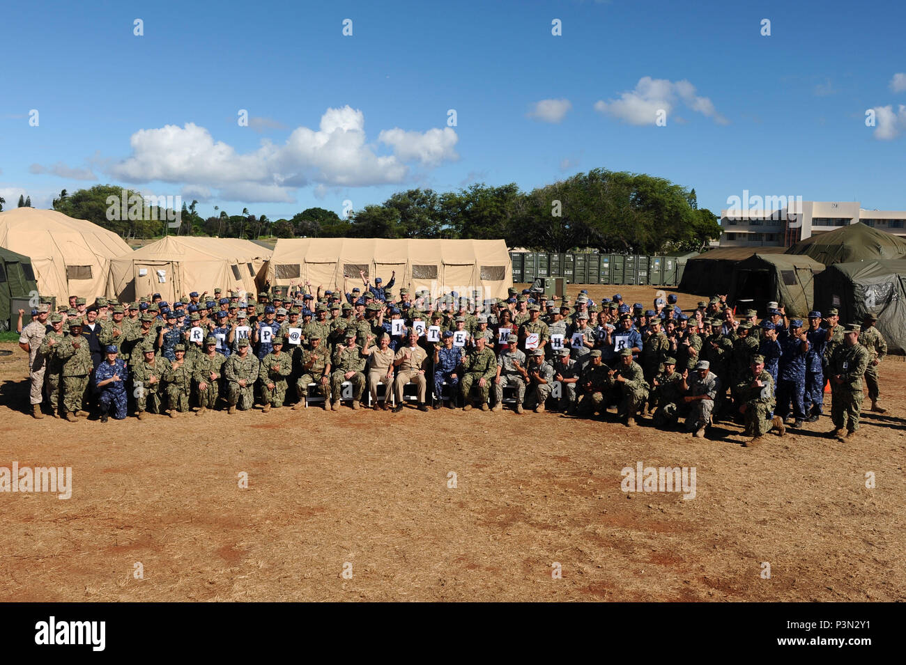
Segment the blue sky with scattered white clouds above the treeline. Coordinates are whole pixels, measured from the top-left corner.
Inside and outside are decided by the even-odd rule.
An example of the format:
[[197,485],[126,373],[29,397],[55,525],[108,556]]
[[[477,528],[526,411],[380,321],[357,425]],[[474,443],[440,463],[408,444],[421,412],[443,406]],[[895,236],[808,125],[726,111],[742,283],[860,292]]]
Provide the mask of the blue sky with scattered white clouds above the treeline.
[[906,209],[899,3],[206,5],[16,6],[5,209],[112,183],[277,219],[595,167],[695,187],[715,212],[743,190]]

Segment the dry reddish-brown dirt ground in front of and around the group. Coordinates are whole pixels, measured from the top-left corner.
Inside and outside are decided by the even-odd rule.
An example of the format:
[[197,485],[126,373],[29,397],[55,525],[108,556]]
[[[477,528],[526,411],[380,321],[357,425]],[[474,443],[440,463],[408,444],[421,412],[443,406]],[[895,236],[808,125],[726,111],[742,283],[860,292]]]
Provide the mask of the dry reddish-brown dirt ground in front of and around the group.
[[[0,347],[0,466],[73,474],[72,499],[0,493],[2,601],[906,600],[897,358],[855,441],[825,416],[747,449],[725,423],[699,440],[511,411],[35,421],[24,354]],[[695,467],[695,498],[624,493],[640,461]]]

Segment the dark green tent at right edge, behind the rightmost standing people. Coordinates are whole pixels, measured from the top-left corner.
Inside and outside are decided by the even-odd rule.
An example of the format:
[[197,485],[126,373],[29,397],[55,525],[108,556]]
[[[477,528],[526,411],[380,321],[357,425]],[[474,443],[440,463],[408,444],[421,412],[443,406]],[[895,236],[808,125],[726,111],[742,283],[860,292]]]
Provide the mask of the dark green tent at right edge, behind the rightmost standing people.
[[827,266],[814,281],[814,305],[835,307],[843,324],[874,314],[888,350],[906,353],[906,258]]

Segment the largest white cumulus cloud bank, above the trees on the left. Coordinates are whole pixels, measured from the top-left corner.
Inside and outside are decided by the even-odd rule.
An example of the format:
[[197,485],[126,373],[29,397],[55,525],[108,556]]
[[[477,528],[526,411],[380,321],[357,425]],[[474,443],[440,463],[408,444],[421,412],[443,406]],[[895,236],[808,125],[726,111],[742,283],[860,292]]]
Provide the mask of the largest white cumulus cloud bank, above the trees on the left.
[[263,139],[240,154],[194,123],[141,129],[130,138],[132,155],[108,172],[130,183],[154,180],[219,190],[225,200],[292,202],[305,185],[398,184],[410,176],[408,163],[438,166],[457,159],[452,128],[425,132],[381,131],[392,154],[380,155],[365,134],[365,118],[349,106],[327,109],[317,129],[295,128],[284,145]]

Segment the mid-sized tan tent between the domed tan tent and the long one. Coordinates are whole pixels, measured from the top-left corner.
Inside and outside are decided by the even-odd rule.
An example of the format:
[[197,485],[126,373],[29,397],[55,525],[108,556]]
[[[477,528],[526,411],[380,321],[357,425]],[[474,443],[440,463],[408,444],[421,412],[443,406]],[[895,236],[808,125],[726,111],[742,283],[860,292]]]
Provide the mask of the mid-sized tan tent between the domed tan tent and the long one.
[[191,291],[239,290],[255,294],[255,278],[271,251],[237,238],[169,235],[111,261],[107,295],[134,300],[159,293],[168,302]]

